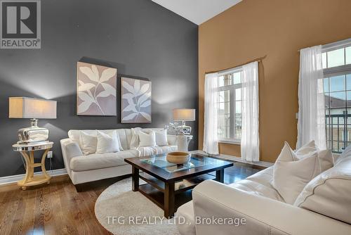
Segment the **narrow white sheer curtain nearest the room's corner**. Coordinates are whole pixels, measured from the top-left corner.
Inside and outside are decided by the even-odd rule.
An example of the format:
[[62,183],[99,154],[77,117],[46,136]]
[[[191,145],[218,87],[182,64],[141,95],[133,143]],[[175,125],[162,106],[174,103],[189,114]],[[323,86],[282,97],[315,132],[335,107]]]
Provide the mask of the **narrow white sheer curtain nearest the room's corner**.
[[218,154],[218,73],[205,77],[204,151]]

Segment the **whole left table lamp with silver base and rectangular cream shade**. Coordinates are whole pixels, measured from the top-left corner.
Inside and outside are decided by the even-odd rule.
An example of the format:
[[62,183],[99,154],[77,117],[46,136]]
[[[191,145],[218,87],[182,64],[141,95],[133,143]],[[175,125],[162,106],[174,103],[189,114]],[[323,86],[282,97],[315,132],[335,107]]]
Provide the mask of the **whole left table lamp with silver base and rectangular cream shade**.
[[47,141],[48,129],[38,127],[38,119],[55,119],[56,101],[28,97],[9,97],[8,118],[30,119],[31,127],[18,130],[19,144]]

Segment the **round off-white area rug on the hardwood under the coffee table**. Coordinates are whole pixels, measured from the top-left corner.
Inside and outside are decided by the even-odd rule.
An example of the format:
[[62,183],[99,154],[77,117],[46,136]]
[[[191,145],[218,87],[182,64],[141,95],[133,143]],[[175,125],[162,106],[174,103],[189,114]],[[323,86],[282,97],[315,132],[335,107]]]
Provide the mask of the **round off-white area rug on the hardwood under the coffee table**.
[[131,178],[105,189],[95,203],[95,216],[115,235],[178,235],[174,220],[143,194],[131,190]]

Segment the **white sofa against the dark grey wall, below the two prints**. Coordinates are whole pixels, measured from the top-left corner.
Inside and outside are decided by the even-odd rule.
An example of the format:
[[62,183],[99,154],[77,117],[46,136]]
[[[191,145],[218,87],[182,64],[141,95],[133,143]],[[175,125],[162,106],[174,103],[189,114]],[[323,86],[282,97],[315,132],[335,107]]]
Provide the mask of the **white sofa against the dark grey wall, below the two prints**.
[[[143,129],[147,132],[152,130],[161,130],[161,128]],[[99,179],[118,177],[125,174],[131,174],[131,165],[124,162],[124,158],[133,158],[138,156],[153,155],[177,151],[177,136],[168,135],[168,146],[141,147],[130,149],[132,131],[131,129],[116,129],[121,146],[124,151],[117,153],[102,153],[83,155],[80,147],[80,131],[85,133],[95,133],[95,130],[69,130],[67,139],[60,141],[62,148],[63,162],[69,177],[73,184],[82,184]],[[101,130],[102,132],[111,132],[112,130]]]

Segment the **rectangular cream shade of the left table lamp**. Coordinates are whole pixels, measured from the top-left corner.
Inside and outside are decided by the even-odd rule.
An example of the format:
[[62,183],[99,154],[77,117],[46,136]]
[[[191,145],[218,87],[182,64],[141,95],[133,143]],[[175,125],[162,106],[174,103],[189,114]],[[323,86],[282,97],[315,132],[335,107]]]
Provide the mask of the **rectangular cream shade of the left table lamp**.
[[8,118],[56,118],[56,101],[28,97],[8,99]]

